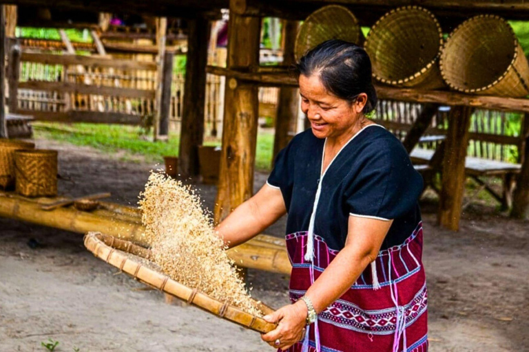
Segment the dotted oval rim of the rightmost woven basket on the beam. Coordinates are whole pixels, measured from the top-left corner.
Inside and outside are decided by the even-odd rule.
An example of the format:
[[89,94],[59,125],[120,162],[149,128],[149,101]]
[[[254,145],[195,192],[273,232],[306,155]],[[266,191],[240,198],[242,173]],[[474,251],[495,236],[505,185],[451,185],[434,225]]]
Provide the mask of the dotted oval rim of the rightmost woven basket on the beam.
[[[501,74],[501,76],[499,76],[496,80],[494,80],[494,82],[486,85],[485,87],[461,89],[460,87],[457,87],[457,86],[453,85],[453,83],[451,83],[450,80],[449,80],[450,78],[448,78],[446,76],[446,72],[444,70],[444,53],[446,52],[446,50],[447,50],[446,48],[448,47],[448,45],[450,45],[450,39],[452,39],[453,36],[455,36],[455,34],[457,34],[457,32],[459,32],[461,30],[461,28],[464,28],[466,25],[469,25],[469,23],[472,23],[473,21],[477,21],[479,19],[484,19],[484,18],[497,19],[497,20],[502,21],[502,22],[505,23],[506,28],[508,28],[509,32],[512,34],[512,38],[514,39],[514,45],[512,47],[513,50],[514,50],[514,54],[512,56],[512,59],[511,59],[509,65],[505,69],[504,73]],[[516,59],[518,57],[517,46],[518,46],[517,36],[516,36],[515,32],[512,30],[512,27],[505,21],[505,19],[499,17],[496,14],[479,14],[479,15],[477,15],[475,17],[471,17],[470,19],[467,19],[466,21],[464,21],[463,23],[458,25],[455,28],[455,30],[453,30],[452,33],[450,33],[450,35],[446,39],[446,42],[444,43],[443,48],[441,50],[441,56],[439,58],[439,68],[441,69],[441,76],[443,77],[443,79],[444,79],[445,83],[448,85],[448,87],[450,87],[450,89],[454,89],[456,91],[462,91],[464,93],[473,94],[473,93],[478,93],[479,91],[484,91],[486,89],[490,89],[490,88],[494,87],[495,85],[497,85],[498,83],[500,83],[501,80],[503,80],[507,76],[507,74],[509,73],[510,69],[513,68],[513,65],[515,65]],[[529,91],[529,89],[527,89],[527,90]]]

